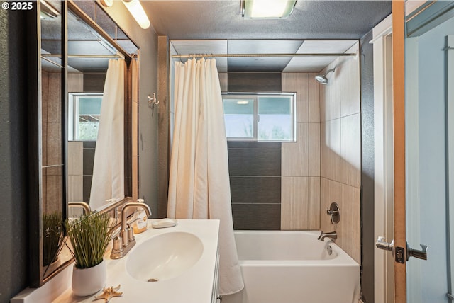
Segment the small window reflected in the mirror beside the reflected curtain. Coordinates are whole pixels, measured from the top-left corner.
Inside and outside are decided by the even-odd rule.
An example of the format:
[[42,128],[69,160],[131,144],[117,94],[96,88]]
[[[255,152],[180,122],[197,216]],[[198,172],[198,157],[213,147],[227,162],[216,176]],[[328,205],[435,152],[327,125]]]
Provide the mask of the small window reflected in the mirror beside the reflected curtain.
[[68,139],[96,141],[102,93],[70,93]]

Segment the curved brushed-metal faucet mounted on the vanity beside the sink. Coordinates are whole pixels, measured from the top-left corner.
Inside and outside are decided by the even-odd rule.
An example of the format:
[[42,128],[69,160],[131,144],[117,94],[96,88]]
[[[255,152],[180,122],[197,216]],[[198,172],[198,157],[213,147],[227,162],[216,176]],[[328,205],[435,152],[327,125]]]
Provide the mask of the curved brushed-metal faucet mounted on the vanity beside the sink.
[[145,203],[129,202],[123,206],[121,210],[121,229],[119,234],[114,237],[114,247],[111,252],[112,259],[123,258],[135,245],[134,231],[128,224],[128,218],[126,217],[126,210],[130,207],[142,207],[147,216],[151,216],[150,207]]

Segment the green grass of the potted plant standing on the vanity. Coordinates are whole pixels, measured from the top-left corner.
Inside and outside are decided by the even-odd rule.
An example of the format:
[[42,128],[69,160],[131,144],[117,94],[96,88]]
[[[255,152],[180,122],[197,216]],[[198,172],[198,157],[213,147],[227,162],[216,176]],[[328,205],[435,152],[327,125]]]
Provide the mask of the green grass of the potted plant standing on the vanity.
[[109,227],[109,214],[82,215],[72,222],[67,220],[65,227],[76,268],[91,268],[103,261],[113,232]]

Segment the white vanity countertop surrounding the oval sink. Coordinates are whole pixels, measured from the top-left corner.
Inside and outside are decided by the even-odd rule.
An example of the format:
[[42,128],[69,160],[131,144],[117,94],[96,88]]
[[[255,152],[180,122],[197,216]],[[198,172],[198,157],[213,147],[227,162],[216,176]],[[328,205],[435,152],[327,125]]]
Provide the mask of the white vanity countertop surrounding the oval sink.
[[[111,302],[116,303],[131,303],[131,302],[159,302],[159,303],[219,303],[218,298],[218,283],[219,283],[219,253],[218,253],[218,234],[219,220],[215,219],[178,219],[178,224],[175,227],[153,229],[152,223],[157,219],[150,219],[148,230],[141,234],[135,235],[136,244],[126,256],[118,260],[109,258],[110,251],[104,255],[107,270],[106,287],[116,287],[121,285],[120,292],[123,292],[121,297],[115,297]],[[179,270],[168,264],[162,263],[162,266],[167,266],[169,270],[177,270],[177,274],[171,278],[157,279],[156,282],[145,282],[141,278],[133,278],[131,271],[128,272],[128,262],[139,261],[140,268],[135,270],[146,270],[145,277],[149,275],[153,277],[155,272],[151,269],[150,272],[146,269],[150,263],[153,263],[160,255],[159,252],[153,251],[153,247],[149,246],[151,251],[148,253],[135,253],[135,250],[141,249],[140,245],[149,244],[149,241],[160,241],[165,234],[192,234],[200,240],[203,250],[196,262]],[[164,237],[174,239],[172,237]],[[179,238],[177,238],[179,239]],[[167,251],[171,253],[172,249],[166,250],[166,245],[174,247],[172,244],[175,241],[160,241],[159,251]],[[186,243],[186,242],[184,242]],[[144,246],[143,246],[144,247]],[[148,247],[148,246],[147,246]],[[190,251],[191,245],[186,245],[184,249]],[[175,251],[174,251],[175,252]],[[178,253],[177,253],[178,255]],[[183,254],[184,255],[184,254]],[[175,253],[174,253],[174,256]],[[159,256],[162,259],[162,256]],[[129,260],[129,258],[133,258]],[[142,259],[143,258],[143,259]],[[128,261],[129,260],[129,261]],[[178,263],[178,262],[177,262]],[[181,264],[181,263],[179,263]],[[131,265],[131,264],[130,264]],[[175,265],[175,264],[173,264]],[[185,266],[185,265],[183,265]],[[157,264],[160,267],[160,264]],[[131,270],[131,269],[129,269]],[[140,273],[135,273],[139,274]],[[51,302],[51,303],[91,303],[94,296],[75,297],[71,290],[72,266],[68,266],[65,270],[50,280],[43,287],[37,289],[27,289],[19,295],[11,299],[11,303],[36,303],[36,302]],[[145,278],[143,277],[143,278]],[[156,277],[157,278],[157,277]],[[99,292],[100,293],[100,292]],[[96,295],[99,295],[96,294]]]

